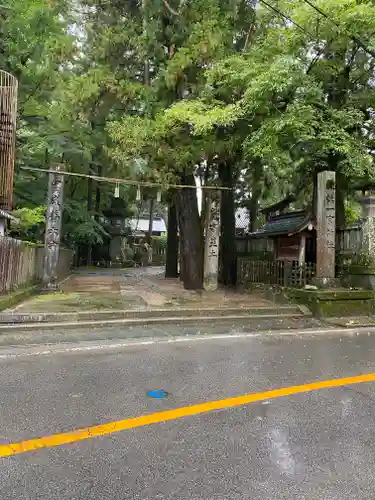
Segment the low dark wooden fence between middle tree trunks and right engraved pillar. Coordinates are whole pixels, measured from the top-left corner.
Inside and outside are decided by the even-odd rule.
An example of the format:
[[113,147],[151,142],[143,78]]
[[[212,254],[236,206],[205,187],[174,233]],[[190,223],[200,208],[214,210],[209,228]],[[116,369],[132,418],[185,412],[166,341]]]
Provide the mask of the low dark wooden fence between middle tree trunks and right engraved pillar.
[[300,266],[296,261],[256,260],[242,257],[238,259],[237,283],[303,287],[311,283],[315,273],[316,265],[313,263]]

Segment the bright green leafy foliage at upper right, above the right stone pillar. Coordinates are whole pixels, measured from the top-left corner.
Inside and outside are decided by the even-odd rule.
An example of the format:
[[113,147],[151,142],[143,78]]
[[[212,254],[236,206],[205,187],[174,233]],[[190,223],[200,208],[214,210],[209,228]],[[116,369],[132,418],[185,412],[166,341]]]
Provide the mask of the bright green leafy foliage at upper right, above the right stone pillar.
[[[146,156],[162,178],[203,159],[242,158],[248,182],[254,161],[260,162],[274,189],[282,180],[304,199],[303,188],[310,185],[311,199],[312,179],[321,169],[336,171],[344,197],[355,179],[374,178],[368,111],[375,97],[373,58],[351,37],[374,45],[374,9],[354,0],[317,4],[340,29],[306,3],[282,0],[277,7],[302,29],[264,5],[255,22],[248,8],[242,50],[229,43],[237,36],[244,42],[238,2],[234,9],[219,1],[198,2],[196,12],[186,7],[173,26],[179,45],[155,77],[159,92],[162,82],[175,90],[172,105],[156,107],[151,117],[111,123],[114,158]],[[204,20],[200,8],[207,9]],[[267,191],[272,189],[265,185],[263,195]]]

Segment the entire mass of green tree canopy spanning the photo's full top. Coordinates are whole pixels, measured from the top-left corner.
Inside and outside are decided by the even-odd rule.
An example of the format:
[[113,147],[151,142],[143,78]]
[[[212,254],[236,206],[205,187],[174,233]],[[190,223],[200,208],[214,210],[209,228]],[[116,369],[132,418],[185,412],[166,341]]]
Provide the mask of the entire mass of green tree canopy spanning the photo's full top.
[[[253,220],[287,194],[313,209],[330,169],[340,225],[353,186],[375,180],[369,0],[3,3],[0,60],[20,83],[15,208],[32,221],[46,178],[27,165],[162,185],[215,183],[230,165]],[[102,241],[113,186],[67,184],[66,242]],[[135,190],[122,195],[131,210]]]

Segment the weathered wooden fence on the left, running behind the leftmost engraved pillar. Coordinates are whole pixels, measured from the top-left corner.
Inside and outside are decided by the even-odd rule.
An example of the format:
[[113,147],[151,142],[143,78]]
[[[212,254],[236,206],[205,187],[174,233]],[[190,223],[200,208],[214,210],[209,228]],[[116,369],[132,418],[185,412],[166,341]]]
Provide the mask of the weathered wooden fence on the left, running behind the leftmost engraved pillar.
[[[44,247],[0,236],[0,294],[37,283],[43,277]],[[57,275],[72,267],[72,250],[60,249]]]

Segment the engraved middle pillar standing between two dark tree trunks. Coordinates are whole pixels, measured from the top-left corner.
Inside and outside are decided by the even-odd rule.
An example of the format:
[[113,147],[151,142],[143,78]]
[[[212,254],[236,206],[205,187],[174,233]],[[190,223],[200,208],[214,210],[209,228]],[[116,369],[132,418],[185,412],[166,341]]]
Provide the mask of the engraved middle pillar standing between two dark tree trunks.
[[203,287],[212,292],[218,289],[220,248],[221,193],[209,191],[206,200]]

